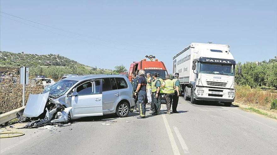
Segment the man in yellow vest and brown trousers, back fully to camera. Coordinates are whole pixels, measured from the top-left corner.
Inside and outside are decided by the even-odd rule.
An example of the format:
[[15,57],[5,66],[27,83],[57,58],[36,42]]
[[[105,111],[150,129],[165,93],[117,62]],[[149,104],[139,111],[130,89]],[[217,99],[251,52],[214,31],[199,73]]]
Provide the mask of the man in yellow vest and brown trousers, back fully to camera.
[[166,76],[166,80],[161,84],[161,88],[167,101],[167,114],[170,114],[171,102],[174,94],[174,83],[170,80],[170,75]]

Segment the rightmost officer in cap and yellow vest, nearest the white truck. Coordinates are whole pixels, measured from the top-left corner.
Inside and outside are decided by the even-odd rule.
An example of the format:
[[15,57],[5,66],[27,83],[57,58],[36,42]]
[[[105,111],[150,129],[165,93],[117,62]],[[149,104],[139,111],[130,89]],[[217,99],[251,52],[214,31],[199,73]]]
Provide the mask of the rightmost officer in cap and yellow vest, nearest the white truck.
[[172,102],[172,113],[179,113],[177,111],[179,96],[180,96],[180,81],[179,81],[179,73],[175,73],[174,75],[173,84],[174,84],[174,95],[173,95],[173,102]]

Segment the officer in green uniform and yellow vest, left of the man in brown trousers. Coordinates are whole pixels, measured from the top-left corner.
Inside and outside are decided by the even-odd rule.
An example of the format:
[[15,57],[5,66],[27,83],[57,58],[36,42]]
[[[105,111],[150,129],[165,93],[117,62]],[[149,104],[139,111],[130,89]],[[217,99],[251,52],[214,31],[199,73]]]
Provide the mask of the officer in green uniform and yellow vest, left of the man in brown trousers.
[[161,109],[161,95],[160,95],[161,81],[157,78],[156,72],[152,73],[152,78],[153,78],[153,81],[151,84],[152,112],[150,114],[158,115]]

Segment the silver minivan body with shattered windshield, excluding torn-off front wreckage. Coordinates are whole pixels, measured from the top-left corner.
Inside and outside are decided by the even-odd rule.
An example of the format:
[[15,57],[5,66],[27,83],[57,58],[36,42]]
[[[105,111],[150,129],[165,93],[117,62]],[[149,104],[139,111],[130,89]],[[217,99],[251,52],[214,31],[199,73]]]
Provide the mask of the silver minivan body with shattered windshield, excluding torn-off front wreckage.
[[115,113],[126,117],[135,103],[133,88],[122,75],[76,75],[47,87],[49,98],[72,107],[68,119]]

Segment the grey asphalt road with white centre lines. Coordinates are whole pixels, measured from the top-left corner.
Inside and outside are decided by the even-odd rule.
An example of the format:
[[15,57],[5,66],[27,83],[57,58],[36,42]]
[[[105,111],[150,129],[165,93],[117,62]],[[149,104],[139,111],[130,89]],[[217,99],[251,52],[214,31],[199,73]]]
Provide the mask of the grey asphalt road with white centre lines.
[[0,140],[1,155],[277,154],[274,119],[219,103],[192,105],[181,97],[179,114],[165,114],[165,105],[162,109],[158,116],[147,111],[145,119],[131,113],[122,119],[87,117],[54,131],[19,129],[25,136]]

